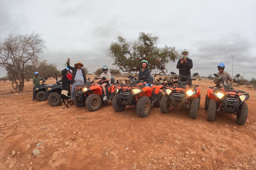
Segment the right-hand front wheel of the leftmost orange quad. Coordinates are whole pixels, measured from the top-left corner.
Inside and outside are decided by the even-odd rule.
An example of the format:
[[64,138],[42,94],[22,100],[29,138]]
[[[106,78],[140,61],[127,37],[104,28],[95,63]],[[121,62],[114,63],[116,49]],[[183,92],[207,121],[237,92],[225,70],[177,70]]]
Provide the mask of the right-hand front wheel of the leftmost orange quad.
[[97,94],[89,95],[86,98],[85,105],[92,112],[99,110],[100,107],[101,107],[101,98],[100,98],[100,96],[97,95]]

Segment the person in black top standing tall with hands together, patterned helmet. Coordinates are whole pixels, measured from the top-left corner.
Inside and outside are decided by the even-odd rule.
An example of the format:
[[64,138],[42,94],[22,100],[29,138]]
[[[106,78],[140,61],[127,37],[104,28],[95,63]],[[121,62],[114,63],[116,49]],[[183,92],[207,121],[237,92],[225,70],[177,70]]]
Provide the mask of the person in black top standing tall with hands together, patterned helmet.
[[[183,49],[182,52],[182,58],[179,59],[177,63],[177,69],[179,69],[179,81],[187,81],[188,78],[191,76],[190,69],[193,68],[193,62],[190,58],[188,58],[188,50]],[[192,82],[188,82],[189,86],[193,86]]]

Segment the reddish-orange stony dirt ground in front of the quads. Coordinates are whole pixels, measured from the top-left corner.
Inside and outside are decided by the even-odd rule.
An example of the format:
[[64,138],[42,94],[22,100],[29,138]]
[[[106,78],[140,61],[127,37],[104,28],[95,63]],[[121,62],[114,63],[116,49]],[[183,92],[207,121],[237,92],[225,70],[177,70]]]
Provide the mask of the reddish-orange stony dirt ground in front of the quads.
[[[96,112],[51,107],[48,101],[31,101],[32,82],[15,94],[10,93],[10,82],[1,82],[0,169],[256,169],[256,90],[236,88],[250,94],[248,119],[240,126],[236,116],[227,113],[208,122],[204,99],[206,88],[213,84],[210,80],[194,84],[201,86],[202,96],[195,120],[185,109],[162,114],[153,105],[148,117],[139,118],[132,106],[114,112],[110,101]],[[39,142],[41,155],[34,156]]]

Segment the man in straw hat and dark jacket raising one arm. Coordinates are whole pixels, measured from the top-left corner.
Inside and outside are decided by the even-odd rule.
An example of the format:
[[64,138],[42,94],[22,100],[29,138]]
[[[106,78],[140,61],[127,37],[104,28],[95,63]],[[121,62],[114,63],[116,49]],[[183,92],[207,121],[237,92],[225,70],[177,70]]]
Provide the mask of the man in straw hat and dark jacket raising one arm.
[[73,76],[71,80],[72,90],[71,90],[71,104],[70,104],[70,106],[72,106],[74,104],[75,88],[76,86],[82,86],[83,84],[86,83],[86,75],[85,75],[85,71],[81,69],[84,65],[80,61],[74,64],[75,67],[71,67],[69,65],[69,62],[70,62],[70,59],[68,58],[67,67],[73,71]]

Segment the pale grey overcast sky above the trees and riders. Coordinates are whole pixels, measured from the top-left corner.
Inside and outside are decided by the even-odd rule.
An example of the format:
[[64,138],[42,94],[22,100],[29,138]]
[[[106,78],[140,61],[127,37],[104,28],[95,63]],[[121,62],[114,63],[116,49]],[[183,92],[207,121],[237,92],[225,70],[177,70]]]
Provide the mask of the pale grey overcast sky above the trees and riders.
[[[253,0],[0,0],[0,39],[9,34],[42,34],[44,59],[58,69],[70,57],[90,73],[115,67],[105,52],[117,36],[134,42],[139,32],[159,37],[158,46],[184,48],[193,60],[191,72],[207,76],[225,71],[256,78],[256,1]],[[175,71],[175,63],[167,65]],[[0,70],[0,77],[5,71]]]

